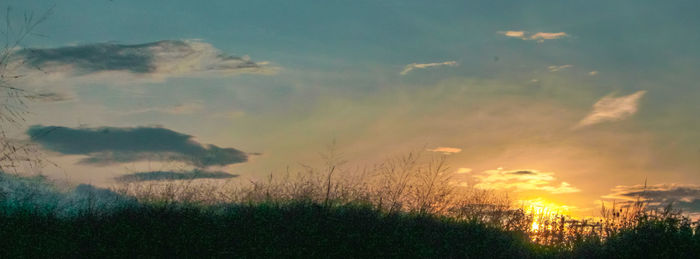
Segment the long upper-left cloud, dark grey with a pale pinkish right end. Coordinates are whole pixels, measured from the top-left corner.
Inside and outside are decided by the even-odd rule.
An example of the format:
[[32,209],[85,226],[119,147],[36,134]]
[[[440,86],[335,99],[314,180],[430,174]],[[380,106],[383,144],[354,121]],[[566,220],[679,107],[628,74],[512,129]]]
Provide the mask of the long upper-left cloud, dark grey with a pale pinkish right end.
[[14,54],[28,68],[46,73],[81,76],[125,72],[156,78],[201,73],[231,75],[265,72],[265,62],[226,54],[199,40],[164,40],[144,44],[94,43],[46,49],[24,49]]

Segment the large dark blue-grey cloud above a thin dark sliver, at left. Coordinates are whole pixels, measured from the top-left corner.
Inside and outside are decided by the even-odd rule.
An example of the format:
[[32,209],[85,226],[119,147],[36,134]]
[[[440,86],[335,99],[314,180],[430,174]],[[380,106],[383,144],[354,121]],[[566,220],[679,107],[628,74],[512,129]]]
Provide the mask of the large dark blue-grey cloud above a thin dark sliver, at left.
[[107,165],[143,160],[181,161],[196,167],[243,163],[248,154],[234,148],[202,145],[192,136],[165,128],[67,128],[32,126],[31,140],[65,155],[86,155],[86,164]]

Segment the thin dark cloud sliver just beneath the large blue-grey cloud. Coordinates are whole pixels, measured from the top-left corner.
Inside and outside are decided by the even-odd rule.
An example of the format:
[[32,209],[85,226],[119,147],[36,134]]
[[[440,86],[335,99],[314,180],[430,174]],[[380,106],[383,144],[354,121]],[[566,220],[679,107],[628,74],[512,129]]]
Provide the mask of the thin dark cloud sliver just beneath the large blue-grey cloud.
[[194,170],[191,172],[153,171],[122,175],[115,178],[115,180],[119,182],[142,182],[189,179],[227,179],[234,177],[238,177],[238,175],[225,172],[207,172],[200,170]]

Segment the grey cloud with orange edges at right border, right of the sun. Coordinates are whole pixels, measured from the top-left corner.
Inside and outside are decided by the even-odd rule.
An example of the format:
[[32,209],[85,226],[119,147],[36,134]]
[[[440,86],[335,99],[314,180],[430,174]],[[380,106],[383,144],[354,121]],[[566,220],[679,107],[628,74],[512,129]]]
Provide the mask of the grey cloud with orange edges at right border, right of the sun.
[[700,213],[700,185],[696,184],[618,185],[610,191],[602,198],[622,200],[623,206],[639,199],[652,208],[673,203],[675,208]]

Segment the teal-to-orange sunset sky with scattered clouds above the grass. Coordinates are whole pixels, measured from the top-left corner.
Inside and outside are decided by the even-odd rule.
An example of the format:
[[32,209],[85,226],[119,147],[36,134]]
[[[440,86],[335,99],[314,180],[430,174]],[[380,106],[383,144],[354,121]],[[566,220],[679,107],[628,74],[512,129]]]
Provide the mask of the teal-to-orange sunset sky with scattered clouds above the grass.
[[259,178],[335,142],[581,215],[639,195],[700,213],[697,1],[0,4],[15,25],[51,9],[13,55],[45,98],[11,135],[57,178]]

